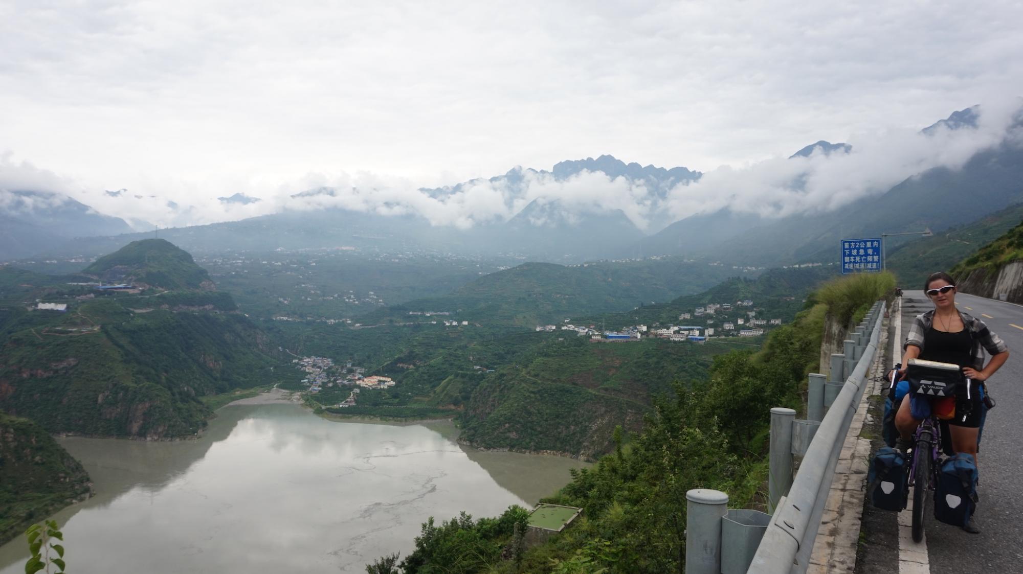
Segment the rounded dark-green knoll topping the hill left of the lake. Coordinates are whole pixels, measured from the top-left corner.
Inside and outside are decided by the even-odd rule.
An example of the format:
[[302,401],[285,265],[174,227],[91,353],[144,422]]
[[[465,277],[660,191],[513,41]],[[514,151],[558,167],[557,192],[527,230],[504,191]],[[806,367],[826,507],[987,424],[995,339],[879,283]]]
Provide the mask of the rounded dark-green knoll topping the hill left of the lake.
[[82,271],[106,283],[145,284],[161,289],[213,289],[191,254],[166,239],[132,241]]

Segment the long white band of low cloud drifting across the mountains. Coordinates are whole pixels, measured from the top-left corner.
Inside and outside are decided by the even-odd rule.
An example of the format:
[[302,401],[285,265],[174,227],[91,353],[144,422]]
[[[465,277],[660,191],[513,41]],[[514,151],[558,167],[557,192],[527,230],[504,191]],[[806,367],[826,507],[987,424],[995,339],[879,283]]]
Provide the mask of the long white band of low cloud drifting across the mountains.
[[[434,226],[470,229],[503,223],[536,202],[529,223],[581,221],[592,213],[621,211],[648,233],[696,213],[729,207],[738,212],[779,218],[829,211],[892,186],[927,170],[961,169],[974,154],[1002,142],[1023,143],[1020,100],[985,103],[976,127],[938,126],[851,134],[843,138],[847,153],[776,157],[743,166],[721,166],[698,181],[678,185],[666,194],[641,181],[612,178],[602,172],[581,172],[557,179],[548,172],[517,168],[509,177],[478,179],[440,190],[422,189],[407,178],[369,172],[311,173],[291,182],[228,178],[202,189],[242,189],[225,197],[203,192],[194,183],[138,180],[118,192],[89,191],[28,162],[0,156],[0,190],[31,189],[68,194],[126,221],[161,227],[182,227],[235,221],[282,211],[347,209],[382,216],[418,216]],[[53,196],[46,201],[60,201]],[[189,198],[189,199],[185,199]],[[198,199],[196,199],[198,198]],[[225,200],[225,199],[242,200]],[[259,198],[259,200],[255,200]],[[37,201],[43,201],[42,199]],[[8,191],[0,209],[26,208]],[[531,210],[531,213],[533,211]]]

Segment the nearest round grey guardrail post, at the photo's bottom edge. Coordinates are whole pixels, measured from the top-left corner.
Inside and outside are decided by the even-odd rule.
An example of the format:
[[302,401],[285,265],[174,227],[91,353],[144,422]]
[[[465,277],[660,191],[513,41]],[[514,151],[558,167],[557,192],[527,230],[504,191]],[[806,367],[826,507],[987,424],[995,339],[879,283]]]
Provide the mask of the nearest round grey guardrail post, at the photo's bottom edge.
[[685,574],[720,574],[721,519],[728,514],[728,495],[694,488],[685,499]]

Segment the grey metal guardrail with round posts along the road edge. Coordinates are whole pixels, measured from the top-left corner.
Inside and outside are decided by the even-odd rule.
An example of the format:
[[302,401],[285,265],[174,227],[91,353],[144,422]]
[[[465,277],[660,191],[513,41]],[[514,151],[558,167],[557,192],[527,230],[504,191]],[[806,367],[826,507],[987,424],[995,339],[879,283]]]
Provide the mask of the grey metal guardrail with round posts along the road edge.
[[[757,517],[750,513],[756,511],[728,511],[727,494],[717,490],[701,488],[686,493],[685,574],[806,572],[835,467],[868,386],[866,373],[877,352],[884,310],[882,301],[875,303],[843,341],[845,352],[832,355],[833,381],[826,382],[824,375],[809,376],[807,420],[797,421],[792,409],[771,409],[768,508],[773,516],[758,513],[761,528],[722,537],[722,523],[732,514],[747,513],[741,519],[754,526]],[[844,382],[838,382],[843,376]],[[795,478],[793,455],[803,455]],[[761,535],[756,553],[749,556],[756,543],[750,538]],[[722,562],[722,553],[731,560]],[[735,560],[737,554],[745,559]]]

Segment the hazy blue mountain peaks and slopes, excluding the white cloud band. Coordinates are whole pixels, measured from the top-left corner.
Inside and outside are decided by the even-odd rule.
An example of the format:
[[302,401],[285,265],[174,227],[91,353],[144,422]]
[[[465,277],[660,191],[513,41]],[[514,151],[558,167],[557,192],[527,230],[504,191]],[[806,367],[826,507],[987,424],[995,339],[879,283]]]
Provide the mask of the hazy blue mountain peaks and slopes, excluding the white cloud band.
[[[921,134],[978,126],[979,108],[966,108],[925,128]],[[1023,122],[1017,115],[1014,128]],[[845,143],[818,141],[789,157],[810,161],[854,153]],[[368,212],[345,208],[346,193],[359,190],[320,187],[291,196],[295,205],[281,212],[206,226],[161,230],[161,236],[192,252],[272,250],[351,246],[369,250],[429,250],[463,254],[515,254],[533,260],[571,262],[594,258],[679,254],[732,265],[776,266],[828,261],[842,238],[882,233],[934,232],[963,225],[1023,200],[1023,148],[1006,138],[982,148],[961,169],[921,170],[887,191],[860,197],[838,209],[803,210],[782,217],[759,214],[735,202],[673,221],[671,201],[686,196],[685,186],[702,184],[704,174],[687,168],[626,163],[611,155],[562,161],[549,171],[517,166],[489,179],[418,190],[434,205],[464,201],[476,190],[499,194],[495,213],[437,221],[407,206],[386,204]],[[797,175],[794,193],[805,191]],[[587,178],[593,178],[592,180]],[[9,192],[8,192],[9,193]],[[21,197],[38,192],[16,192]],[[123,190],[117,192],[124,195]],[[618,201],[628,194],[628,201]],[[243,193],[221,197],[221,203],[251,204]],[[739,201],[739,200],[737,200]],[[74,200],[76,213],[88,213],[91,227],[62,226],[52,210],[23,209],[15,219],[34,232],[26,241],[4,242],[0,259],[28,254],[98,255],[144,237],[109,237],[128,230],[124,221],[92,212]],[[333,205],[333,206],[332,206]],[[635,207],[638,206],[638,207]],[[66,209],[66,207],[64,207]],[[636,210],[640,209],[640,210]],[[9,210],[8,210],[9,211]],[[4,216],[8,220],[10,214]],[[7,220],[5,220],[7,221]],[[85,220],[83,220],[85,221]],[[450,224],[450,225],[447,225]],[[57,233],[59,228],[59,233]],[[46,240],[34,238],[52,231]],[[69,236],[90,237],[68,241]],[[893,242],[897,245],[899,242]]]

